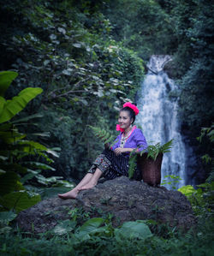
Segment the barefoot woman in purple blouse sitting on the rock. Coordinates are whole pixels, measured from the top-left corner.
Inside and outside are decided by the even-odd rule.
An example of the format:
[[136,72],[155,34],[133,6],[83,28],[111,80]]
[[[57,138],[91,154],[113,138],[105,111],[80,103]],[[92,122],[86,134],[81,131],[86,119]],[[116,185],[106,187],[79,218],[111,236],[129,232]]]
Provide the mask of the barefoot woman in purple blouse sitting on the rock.
[[75,199],[80,190],[93,188],[98,179],[104,176],[111,180],[117,176],[128,176],[129,154],[134,149],[137,151],[146,149],[146,139],[139,128],[132,127],[138,108],[131,103],[123,104],[118,118],[119,125],[116,129],[121,133],[116,138],[116,143],[110,149],[106,148],[92,164],[91,169],[81,182],[68,193],[58,194],[61,199]]

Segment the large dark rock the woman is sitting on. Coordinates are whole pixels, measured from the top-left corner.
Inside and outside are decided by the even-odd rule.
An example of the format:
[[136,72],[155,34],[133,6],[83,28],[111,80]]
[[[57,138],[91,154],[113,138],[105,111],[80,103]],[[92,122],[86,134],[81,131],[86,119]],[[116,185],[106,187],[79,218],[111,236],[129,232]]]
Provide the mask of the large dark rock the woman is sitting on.
[[23,231],[45,232],[54,228],[58,221],[68,219],[68,211],[74,207],[91,212],[91,217],[109,212],[114,216],[114,226],[138,219],[154,219],[181,229],[189,229],[196,223],[192,207],[182,193],[152,188],[125,176],[81,191],[77,199],[45,199],[21,211],[17,223]]

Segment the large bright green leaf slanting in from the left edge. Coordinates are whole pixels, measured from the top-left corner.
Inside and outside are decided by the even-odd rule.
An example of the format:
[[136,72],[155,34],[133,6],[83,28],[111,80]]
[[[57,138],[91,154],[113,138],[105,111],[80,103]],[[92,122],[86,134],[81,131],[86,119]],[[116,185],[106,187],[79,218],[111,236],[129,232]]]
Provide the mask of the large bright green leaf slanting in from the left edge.
[[9,121],[13,116],[23,110],[27,103],[43,92],[42,88],[27,87],[22,90],[18,96],[7,100],[3,106],[3,113],[0,116],[0,123]]

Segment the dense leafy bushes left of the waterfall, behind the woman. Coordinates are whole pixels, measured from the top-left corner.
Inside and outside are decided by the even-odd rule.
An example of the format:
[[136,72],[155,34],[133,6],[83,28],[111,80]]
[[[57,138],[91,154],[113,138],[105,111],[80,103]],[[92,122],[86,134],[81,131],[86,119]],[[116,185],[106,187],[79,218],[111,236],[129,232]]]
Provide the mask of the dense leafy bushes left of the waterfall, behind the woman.
[[44,115],[46,122],[40,119],[34,133],[48,130],[50,137],[39,142],[62,148],[54,167],[68,179],[80,179],[101,148],[86,125],[103,122],[113,129],[117,110],[134,101],[144,73],[134,51],[111,38],[110,21],[98,7],[102,4],[44,0],[3,4],[3,14],[19,21],[0,42],[4,65],[20,74],[8,94],[28,84],[42,86],[44,93],[21,114]]

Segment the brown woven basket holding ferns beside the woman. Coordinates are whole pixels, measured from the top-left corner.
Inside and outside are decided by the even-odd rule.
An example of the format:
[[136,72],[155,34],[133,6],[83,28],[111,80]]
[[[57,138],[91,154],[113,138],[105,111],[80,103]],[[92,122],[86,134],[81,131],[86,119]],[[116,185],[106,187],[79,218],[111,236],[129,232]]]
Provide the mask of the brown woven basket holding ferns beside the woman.
[[141,157],[138,156],[138,168],[143,181],[150,186],[157,187],[161,182],[163,153],[159,153],[155,161],[152,158],[147,158],[147,155],[148,153],[144,153]]

